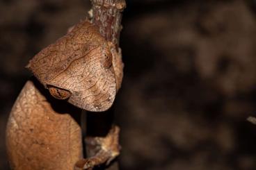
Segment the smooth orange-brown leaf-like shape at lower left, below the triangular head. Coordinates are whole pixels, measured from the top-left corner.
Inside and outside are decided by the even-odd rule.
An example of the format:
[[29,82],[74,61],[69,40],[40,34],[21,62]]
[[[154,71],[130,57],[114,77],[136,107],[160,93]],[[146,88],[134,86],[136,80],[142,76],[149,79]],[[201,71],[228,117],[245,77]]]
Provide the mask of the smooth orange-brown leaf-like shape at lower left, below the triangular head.
[[81,128],[70,113],[76,109],[52,108],[44,95],[29,80],[15,101],[6,129],[12,169],[72,170],[83,158]]

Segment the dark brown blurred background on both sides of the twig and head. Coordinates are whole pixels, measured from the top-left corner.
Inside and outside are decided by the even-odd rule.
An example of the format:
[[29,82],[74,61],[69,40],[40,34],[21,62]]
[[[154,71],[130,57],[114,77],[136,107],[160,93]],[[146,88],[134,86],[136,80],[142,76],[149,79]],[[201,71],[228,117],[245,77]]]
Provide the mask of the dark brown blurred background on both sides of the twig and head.
[[[0,1],[0,169],[5,129],[35,53],[89,0]],[[256,1],[127,0],[115,101],[124,170],[256,169]]]

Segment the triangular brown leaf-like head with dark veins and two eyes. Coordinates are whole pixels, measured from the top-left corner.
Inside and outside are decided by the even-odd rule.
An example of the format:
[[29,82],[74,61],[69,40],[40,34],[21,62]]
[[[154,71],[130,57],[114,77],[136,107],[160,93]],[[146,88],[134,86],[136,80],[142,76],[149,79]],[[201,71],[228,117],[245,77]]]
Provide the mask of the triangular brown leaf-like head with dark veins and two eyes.
[[40,51],[27,67],[42,85],[51,88],[56,99],[102,112],[111,107],[119,87],[112,60],[109,43],[99,28],[84,21]]

